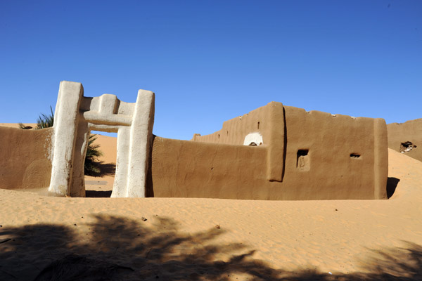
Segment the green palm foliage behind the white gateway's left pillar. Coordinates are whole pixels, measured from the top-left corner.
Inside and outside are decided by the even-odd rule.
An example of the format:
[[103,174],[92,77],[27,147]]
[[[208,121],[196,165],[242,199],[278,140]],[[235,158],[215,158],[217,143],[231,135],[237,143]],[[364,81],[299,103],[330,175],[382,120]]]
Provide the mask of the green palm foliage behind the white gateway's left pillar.
[[[41,113],[37,119],[37,128],[38,129],[45,129],[50,128],[54,124],[54,113],[53,107],[50,105],[50,115],[44,115]],[[20,129],[32,129],[31,126],[25,126],[25,124],[19,123]],[[84,163],[84,172],[87,176],[99,176],[101,174],[101,170],[99,168],[101,162],[99,162],[98,157],[103,155],[103,152],[99,150],[100,145],[95,145],[94,141],[96,140],[96,135],[89,135],[88,141],[88,148],[87,148],[87,156],[85,157]]]

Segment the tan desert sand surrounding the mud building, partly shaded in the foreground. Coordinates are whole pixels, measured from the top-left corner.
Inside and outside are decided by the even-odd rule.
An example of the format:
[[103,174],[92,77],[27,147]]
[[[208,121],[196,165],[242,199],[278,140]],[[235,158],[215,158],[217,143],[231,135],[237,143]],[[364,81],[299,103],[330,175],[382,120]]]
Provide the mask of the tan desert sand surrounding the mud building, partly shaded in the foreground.
[[[113,164],[115,138],[98,142]],[[0,280],[422,280],[422,162],[389,150],[389,177],[390,200],[0,190]]]

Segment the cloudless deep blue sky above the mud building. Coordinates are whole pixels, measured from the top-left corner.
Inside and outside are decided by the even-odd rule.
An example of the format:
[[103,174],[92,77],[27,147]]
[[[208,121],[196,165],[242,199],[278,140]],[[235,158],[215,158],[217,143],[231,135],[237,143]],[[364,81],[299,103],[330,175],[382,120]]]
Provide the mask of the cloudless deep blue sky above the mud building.
[[270,101],[422,118],[422,1],[0,1],[0,122],[61,80],[155,92],[154,133],[190,139]]

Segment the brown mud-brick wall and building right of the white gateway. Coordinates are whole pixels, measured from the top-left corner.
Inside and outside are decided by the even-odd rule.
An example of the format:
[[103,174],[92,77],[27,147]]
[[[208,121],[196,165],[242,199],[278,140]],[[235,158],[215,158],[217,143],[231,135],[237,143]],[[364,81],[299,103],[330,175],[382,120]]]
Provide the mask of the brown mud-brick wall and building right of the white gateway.
[[[383,119],[288,106],[281,106],[281,115],[279,105],[269,103],[231,119],[222,130],[194,136],[194,141],[155,138],[147,196],[386,199],[388,150]],[[242,145],[251,131],[262,133],[263,145]],[[283,148],[280,162],[270,161],[274,146]],[[280,173],[281,180],[269,180],[269,169]]]

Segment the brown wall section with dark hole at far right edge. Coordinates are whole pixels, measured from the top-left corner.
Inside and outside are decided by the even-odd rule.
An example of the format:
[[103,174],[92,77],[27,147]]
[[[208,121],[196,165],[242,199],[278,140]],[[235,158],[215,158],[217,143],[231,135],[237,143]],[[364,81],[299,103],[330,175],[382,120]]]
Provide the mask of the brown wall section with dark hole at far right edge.
[[388,148],[422,161],[422,118],[387,125]]

